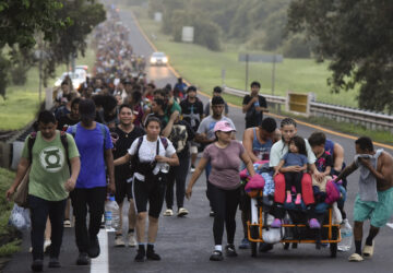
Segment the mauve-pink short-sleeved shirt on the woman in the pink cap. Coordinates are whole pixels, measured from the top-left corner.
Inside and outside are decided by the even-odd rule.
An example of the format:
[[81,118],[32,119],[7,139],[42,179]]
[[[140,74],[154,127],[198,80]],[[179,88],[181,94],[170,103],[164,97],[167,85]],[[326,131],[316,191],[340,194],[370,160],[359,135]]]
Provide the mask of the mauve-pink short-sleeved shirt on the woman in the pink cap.
[[225,149],[217,147],[214,143],[203,151],[203,157],[212,164],[209,181],[224,190],[234,190],[240,186],[239,167],[243,145],[233,140]]

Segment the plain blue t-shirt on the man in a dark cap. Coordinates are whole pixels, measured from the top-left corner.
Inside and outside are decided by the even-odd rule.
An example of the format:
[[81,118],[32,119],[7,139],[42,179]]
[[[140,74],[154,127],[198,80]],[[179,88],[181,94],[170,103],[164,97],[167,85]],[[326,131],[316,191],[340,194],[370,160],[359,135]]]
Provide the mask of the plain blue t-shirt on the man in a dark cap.
[[[105,147],[102,127],[105,128]],[[72,134],[72,127],[67,132]],[[95,129],[87,130],[78,123],[74,139],[81,154],[81,171],[75,188],[106,187],[104,149],[114,147],[108,127],[96,122]]]

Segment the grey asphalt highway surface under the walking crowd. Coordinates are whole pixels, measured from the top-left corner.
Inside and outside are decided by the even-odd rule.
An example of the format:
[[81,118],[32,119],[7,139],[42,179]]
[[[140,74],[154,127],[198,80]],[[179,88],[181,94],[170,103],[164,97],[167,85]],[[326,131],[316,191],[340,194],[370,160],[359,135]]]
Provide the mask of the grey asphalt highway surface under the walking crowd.
[[[121,12],[122,21],[131,29],[130,43],[136,54],[150,56],[154,49],[141,34],[140,28],[130,13]],[[203,69],[203,68],[201,68]],[[154,79],[162,87],[166,83],[176,83],[176,76],[169,68],[147,68],[148,78]],[[251,79],[258,80],[258,79]],[[221,80],[217,79],[217,85]],[[213,86],[212,86],[213,87]],[[205,103],[206,97],[200,95]],[[237,139],[241,140],[245,120],[243,114],[238,107],[230,107],[229,117],[237,127]],[[274,116],[279,122],[279,118]],[[315,129],[299,124],[299,135],[309,136]],[[337,134],[326,133],[327,138],[341,143],[345,149],[345,161],[352,162],[355,149],[354,140]],[[389,150],[390,153],[393,151]],[[349,177],[348,200],[346,211],[348,218],[353,218],[353,204],[357,192],[358,173]],[[383,227],[376,239],[374,257],[361,263],[349,263],[348,256],[354,251],[338,252],[335,259],[330,258],[329,248],[315,250],[313,245],[299,245],[296,250],[284,250],[282,245],[275,245],[269,253],[259,253],[258,258],[251,258],[250,250],[238,250],[239,257],[225,258],[223,262],[211,262],[209,257],[213,249],[213,218],[209,216],[209,205],[205,198],[205,179],[201,176],[196,182],[191,201],[186,201],[184,206],[190,214],[184,218],[160,217],[156,251],[162,256],[162,261],[147,261],[144,263],[133,262],[135,249],[115,248],[112,233],[100,232],[103,254],[92,261],[92,265],[78,266],[75,259],[78,250],[74,242],[74,229],[66,228],[63,246],[60,256],[61,269],[47,269],[48,259],[45,261],[47,272],[393,272],[393,229]],[[127,223],[127,221],[124,221]],[[368,226],[368,224],[366,225]],[[365,229],[365,234],[368,228]],[[224,244],[226,236],[224,236]],[[237,218],[236,246],[242,238],[242,227]],[[15,254],[4,269],[5,273],[29,272],[31,254],[29,236],[26,234],[23,240],[23,249]],[[107,247],[105,246],[107,245]]]

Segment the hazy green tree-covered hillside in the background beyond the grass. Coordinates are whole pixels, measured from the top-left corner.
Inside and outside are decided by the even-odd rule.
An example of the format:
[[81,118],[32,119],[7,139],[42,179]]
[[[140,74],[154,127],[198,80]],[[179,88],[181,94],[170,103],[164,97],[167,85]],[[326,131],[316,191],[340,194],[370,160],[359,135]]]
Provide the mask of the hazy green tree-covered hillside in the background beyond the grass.
[[287,34],[291,0],[150,0],[148,12],[163,12],[163,32],[181,39],[183,25],[194,26],[194,43],[219,50],[223,43],[242,44],[250,50],[310,57],[301,34]]

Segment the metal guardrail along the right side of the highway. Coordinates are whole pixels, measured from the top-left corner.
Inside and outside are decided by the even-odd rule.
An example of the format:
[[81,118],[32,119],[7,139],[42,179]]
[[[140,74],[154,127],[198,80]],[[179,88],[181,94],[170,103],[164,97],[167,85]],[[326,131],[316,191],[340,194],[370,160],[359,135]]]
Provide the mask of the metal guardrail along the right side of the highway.
[[[245,95],[249,94],[248,92],[230,87],[225,87],[224,93],[238,97],[243,97]],[[286,105],[286,97],[264,94],[263,96],[270,104]],[[310,112],[312,116],[326,117],[342,122],[354,122],[356,124],[365,126],[370,130],[388,130],[393,133],[393,116],[381,112],[373,112],[317,102],[311,102]]]

